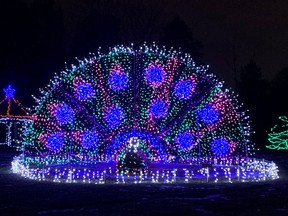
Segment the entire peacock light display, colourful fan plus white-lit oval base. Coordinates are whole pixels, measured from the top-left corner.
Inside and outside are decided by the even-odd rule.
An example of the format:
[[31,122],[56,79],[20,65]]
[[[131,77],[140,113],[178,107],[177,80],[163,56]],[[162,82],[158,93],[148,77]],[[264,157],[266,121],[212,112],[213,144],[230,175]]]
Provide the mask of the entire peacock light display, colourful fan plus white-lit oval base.
[[96,183],[278,177],[274,163],[248,158],[249,118],[190,55],[144,44],[78,61],[36,99],[15,172]]

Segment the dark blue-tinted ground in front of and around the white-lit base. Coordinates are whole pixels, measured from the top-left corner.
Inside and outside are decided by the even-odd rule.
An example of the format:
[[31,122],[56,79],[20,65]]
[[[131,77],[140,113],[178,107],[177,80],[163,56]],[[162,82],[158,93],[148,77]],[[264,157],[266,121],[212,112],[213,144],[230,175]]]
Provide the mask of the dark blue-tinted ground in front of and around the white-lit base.
[[24,179],[0,149],[0,215],[288,215],[288,153],[258,155],[280,179],[250,183],[91,185]]

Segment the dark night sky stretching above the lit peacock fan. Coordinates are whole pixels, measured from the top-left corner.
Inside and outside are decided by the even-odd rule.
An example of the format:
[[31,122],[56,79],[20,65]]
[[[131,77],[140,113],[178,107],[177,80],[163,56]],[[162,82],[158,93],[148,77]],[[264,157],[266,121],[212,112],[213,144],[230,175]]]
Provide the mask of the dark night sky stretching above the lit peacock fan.
[[98,46],[105,52],[119,43],[162,45],[163,29],[175,17],[203,45],[201,61],[228,87],[251,58],[269,81],[288,67],[285,0],[35,2],[3,0],[0,7],[0,86],[14,84],[27,106],[33,103],[31,94],[38,95],[64,62],[76,63],[74,57],[87,57]]

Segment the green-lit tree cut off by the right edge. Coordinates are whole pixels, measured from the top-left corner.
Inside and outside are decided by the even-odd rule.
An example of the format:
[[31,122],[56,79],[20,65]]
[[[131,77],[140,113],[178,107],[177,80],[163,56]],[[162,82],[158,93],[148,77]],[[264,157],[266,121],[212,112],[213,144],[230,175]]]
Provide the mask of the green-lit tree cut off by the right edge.
[[271,143],[266,148],[276,150],[288,150],[288,118],[280,116],[281,125],[275,125],[268,133],[268,140]]

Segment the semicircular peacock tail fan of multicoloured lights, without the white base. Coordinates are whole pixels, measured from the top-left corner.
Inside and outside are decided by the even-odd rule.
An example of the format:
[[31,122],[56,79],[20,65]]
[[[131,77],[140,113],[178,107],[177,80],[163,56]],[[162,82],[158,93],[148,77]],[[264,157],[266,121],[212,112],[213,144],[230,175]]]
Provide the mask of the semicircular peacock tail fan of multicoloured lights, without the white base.
[[119,161],[131,151],[150,162],[247,156],[249,119],[222,84],[208,66],[155,44],[79,60],[36,99],[26,161]]

